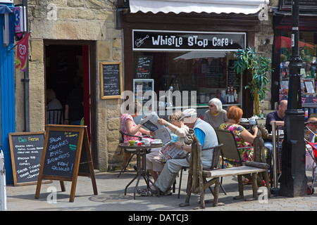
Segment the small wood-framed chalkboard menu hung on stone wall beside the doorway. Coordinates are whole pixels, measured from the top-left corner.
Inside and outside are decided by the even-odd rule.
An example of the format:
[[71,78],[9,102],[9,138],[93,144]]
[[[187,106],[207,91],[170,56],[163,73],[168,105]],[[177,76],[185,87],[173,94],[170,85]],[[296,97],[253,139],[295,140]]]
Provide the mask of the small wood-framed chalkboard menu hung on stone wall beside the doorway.
[[123,91],[120,62],[100,63],[101,99],[120,98]]

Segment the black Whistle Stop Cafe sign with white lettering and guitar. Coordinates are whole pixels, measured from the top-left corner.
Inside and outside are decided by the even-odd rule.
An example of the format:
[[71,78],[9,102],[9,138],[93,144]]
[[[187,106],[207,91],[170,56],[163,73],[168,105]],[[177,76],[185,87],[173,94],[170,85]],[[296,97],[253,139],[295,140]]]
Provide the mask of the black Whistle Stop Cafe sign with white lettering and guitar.
[[133,30],[134,51],[237,51],[245,49],[244,32]]

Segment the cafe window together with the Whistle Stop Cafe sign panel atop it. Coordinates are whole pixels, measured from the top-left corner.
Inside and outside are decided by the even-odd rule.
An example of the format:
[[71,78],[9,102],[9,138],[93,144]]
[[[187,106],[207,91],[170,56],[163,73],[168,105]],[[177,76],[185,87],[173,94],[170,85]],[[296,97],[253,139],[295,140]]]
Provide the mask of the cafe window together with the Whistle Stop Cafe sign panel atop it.
[[[232,63],[235,51],[245,48],[245,32],[132,30],[132,38],[133,88],[146,105],[144,115],[151,109],[166,117],[191,107],[203,117],[211,98],[220,98],[225,108],[242,106],[242,84]],[[153,92],[144,97],[145,91]]]

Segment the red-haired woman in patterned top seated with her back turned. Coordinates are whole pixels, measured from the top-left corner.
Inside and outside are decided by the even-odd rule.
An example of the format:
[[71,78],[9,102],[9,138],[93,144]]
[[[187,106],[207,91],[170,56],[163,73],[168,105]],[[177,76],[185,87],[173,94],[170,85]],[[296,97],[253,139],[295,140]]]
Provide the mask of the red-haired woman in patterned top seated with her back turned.
[[228,122],[221,124],[219,129],[227,129],[232,131],[233,135],[235,136],[235,141],[237,142],[238,148],[244,148],[240,150],[240,156],[245,162],[253,160],[253,148],[251,144],[256,138],[258,127],[253,127],[252,131],[254,131],[254,134],[251,134],[247,129],[239,124],[242,115],[243,111],[241,108],[237,106],[230,106],[227,110]]

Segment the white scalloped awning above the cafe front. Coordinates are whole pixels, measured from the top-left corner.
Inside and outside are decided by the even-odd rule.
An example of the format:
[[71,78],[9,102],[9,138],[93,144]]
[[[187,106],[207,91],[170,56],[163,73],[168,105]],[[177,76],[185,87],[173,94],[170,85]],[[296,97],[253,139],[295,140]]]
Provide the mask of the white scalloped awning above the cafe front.
[[[269,0],[267,0],[268,4]],[[130,0],[131,13],[244,13],[260,11],[264,0]]]

